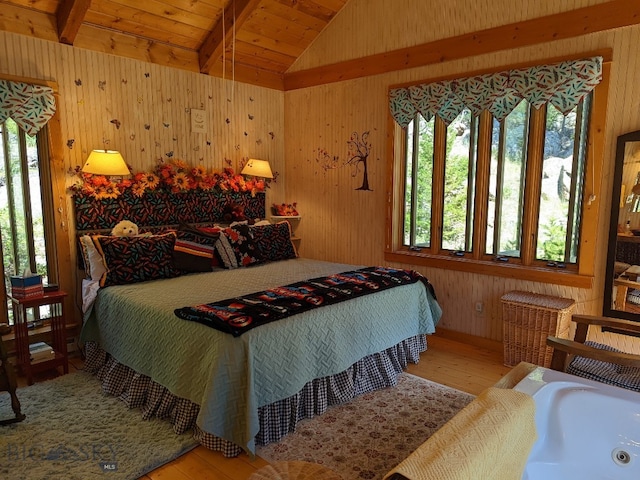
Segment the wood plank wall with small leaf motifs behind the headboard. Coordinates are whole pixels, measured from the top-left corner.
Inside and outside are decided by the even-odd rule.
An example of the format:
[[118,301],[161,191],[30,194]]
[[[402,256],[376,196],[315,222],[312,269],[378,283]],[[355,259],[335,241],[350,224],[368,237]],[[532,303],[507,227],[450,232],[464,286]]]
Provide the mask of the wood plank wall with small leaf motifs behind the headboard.
[[[261,158],[280,174],[267,204],[284,197],[282,92],[0,32],[3,74],[58,84],[67,169],[104,146],[119,150],[134,172],[152,170],[170,152],[208,169],[222,169],[229,159],[239,170],[243,158]],[[206,111],[206,134],[191,132],[192,108]],[[67,185],[72,181],[69,176]],[[70,196],[54,193],[73,242]],[[73,255],[74,245],[69,248]]]

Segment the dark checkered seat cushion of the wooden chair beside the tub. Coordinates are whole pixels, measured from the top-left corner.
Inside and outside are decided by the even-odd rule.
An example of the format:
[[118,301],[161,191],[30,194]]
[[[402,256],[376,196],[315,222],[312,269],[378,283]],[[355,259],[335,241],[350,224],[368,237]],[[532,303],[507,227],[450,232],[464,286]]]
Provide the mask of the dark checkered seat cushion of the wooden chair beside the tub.
[[[620,352],[620,350],[601,343],[588,341],[584,344],[601,350]],[[640,368],[637,367],[627,367],[576,356],[569,362],[567,373],[640,392]]]

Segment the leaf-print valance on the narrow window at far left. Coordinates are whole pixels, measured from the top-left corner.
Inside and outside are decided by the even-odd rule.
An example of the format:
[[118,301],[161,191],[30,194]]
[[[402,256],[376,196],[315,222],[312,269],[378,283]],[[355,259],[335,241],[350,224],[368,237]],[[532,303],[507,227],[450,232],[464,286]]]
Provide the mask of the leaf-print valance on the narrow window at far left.
[[55,112],[51,87],[0,80],[0,122],[11,117],[27,135],[34,136]]

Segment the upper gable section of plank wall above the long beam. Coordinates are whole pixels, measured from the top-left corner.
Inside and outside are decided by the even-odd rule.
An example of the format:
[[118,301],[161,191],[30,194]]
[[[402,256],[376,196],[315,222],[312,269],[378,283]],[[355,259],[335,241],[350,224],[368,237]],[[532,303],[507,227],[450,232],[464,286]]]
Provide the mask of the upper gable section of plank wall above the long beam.
[[[421,45],[609,0],[350,0],[287,73]],[[464,49],[464,45],[460,48]]]

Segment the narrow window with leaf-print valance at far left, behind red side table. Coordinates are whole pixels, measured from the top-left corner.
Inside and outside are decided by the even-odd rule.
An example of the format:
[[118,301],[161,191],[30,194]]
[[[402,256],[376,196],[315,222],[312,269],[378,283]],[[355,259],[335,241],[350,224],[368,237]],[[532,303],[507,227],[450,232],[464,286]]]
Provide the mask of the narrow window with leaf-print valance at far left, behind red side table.
[[[0,322],[13,323],[10,276],[25,270],[58,282],[54,203],[47,121],[55,112],[51,89],[0,80]],[[15,119],[14,119],[15,117]],[[30,309],[32,320],[48,307]],[[42,314],[42,315],[41,315]]]

